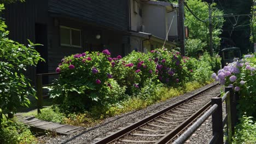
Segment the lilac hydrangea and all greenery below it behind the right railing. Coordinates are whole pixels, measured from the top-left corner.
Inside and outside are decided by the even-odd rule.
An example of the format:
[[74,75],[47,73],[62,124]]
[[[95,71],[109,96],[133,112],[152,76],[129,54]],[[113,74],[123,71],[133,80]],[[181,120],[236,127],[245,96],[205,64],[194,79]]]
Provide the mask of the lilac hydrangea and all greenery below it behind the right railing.
[[[233,137],[235,143],[255,143],[255,117],[256,117],[256,56],[255,53],[245,55],[239,61],[230,63],[213,74],[213,78],[224,86],[234,87],[239,95],[238,117],[240,122]],[[246,116],[243,116],[246,113]],[[254,118],[253,118],[254,117]]]

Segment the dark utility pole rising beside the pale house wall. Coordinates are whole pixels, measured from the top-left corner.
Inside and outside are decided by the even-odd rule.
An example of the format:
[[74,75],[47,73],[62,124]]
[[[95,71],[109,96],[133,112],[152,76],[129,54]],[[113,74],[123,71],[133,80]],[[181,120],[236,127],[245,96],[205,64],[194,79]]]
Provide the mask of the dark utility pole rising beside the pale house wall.
[[178,0],[179,4],[179,22],[178,22],[178,34],[179,45],[181,46],[181,55],[185,56],[185,27],[184,27],[184,0]]

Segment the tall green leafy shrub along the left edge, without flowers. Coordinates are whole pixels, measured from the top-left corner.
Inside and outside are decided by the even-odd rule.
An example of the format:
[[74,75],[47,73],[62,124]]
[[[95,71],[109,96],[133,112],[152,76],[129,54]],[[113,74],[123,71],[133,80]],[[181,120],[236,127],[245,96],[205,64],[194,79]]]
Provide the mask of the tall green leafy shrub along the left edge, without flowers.
[[[0,4],[0,12],[4,9]],[[16,112],[19,106],[28,106],[29,95],[35,95],[30,80],[24,75],[26,68],[43,59],[29,41],[28,47],[8,39],[3,19],[0,19],[0,124],[2,113]]]

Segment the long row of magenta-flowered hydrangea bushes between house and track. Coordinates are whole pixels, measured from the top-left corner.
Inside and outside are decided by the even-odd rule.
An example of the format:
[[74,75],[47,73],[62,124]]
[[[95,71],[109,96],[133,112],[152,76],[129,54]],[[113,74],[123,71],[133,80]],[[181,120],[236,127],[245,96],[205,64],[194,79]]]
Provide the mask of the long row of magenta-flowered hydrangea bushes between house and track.
[[93,111],[101,116],[110,112],[113,105],[123,107],[127,95],[156,101],[161,99],[156,94],[161,86],[177,88],[185,87],[189,81],[205,83],[216,67],[211,65],[214,61],[208,54],[198,61],[166,49],[147,54],[133,51],[124,58],[112,58],[108,50],[78,53],[62,59],[56,68],[60,77],[49,90],[61,112],[68,115]]

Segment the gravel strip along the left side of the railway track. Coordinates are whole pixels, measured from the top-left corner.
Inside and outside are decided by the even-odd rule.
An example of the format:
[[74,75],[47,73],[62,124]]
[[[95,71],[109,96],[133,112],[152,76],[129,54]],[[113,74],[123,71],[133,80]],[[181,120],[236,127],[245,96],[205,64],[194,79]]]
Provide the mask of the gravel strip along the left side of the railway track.
[[154,111],[158,111],[163,106],[171,105],[177,103],[182,99],[190,97],[202,89],[208,88],[215,83],[206,85],[205,87],[196,89],[193,92],[183,94],[179,97],[171,98],[167,101],[148,106],[146,109],[139,111],[132,111],[129,113],[124,113],[123,115],[107,118],[102,124],[96,125],[95,127],[86,128],[84,131],[80,131],[77,134],[68,135],[68,136],[57,136],[57,137],[44,137],[42,140],[45,143],[93,143],[96,142],[98,138],[106,136],[107,133],[117,131],[120,127],[125,127],[129,123],[136,122],[138,117],[143,118],[148,116]]

